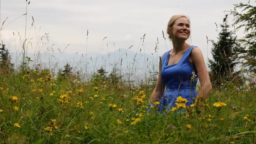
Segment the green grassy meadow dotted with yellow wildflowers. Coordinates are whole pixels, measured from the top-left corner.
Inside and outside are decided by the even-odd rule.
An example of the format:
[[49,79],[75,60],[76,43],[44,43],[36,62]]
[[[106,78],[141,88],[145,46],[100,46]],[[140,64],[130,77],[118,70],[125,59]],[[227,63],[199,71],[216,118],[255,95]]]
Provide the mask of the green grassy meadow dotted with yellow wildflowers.
[[0,143],[254,144],[255,77],[223,83],[205,103],[198,97],[159,113],[159,103],[148,107],[154,85],[130,87],[98,74],[85,83],[30,67],[1,71]]

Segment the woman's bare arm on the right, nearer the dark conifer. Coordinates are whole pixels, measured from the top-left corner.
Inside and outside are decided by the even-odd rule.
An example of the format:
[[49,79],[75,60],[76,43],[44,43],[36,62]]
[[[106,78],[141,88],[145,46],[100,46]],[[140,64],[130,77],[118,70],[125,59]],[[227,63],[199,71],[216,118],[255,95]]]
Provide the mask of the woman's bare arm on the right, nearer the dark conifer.
[[194,66],[197,69],[197,74],[199,82],[201,84],[201,89],[198,92],[199,96],[203,96],[203,102],[207,99],[211,92],[211,81],[209,73],[207,71],[206,65],[204,63],[204,57],[201,50],[198,47],[194,47],[191,52],[191,58]]

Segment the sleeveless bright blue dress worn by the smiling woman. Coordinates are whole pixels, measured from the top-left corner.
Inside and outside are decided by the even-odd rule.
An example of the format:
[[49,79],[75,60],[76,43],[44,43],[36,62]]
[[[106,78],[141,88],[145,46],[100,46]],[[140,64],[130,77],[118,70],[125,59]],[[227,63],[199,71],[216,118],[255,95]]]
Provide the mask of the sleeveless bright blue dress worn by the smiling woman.
[[190,52],[194,47],[194,45],[190,46],[180,61],[173,65],[167,66],[171,50],[164,53],[160,74],[166,88],[158,105],[160,112],[170,110],[172,106],[176,107],[175,101],[178,96],[187,99],[186,106],[190,106],[193,99],[197,97],[197,71],[189,61]]

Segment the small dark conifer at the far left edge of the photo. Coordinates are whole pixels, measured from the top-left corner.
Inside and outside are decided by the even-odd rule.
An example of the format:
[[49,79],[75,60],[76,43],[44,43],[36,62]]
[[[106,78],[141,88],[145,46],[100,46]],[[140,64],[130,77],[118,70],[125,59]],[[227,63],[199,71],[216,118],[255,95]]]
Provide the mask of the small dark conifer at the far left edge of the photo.
[[12,69],[13,65],[14,64],[11,63],[11,57],[8,49],[5,48],[4,44],[2,44],[2,48],[0,48],[0,66],[7,69]]

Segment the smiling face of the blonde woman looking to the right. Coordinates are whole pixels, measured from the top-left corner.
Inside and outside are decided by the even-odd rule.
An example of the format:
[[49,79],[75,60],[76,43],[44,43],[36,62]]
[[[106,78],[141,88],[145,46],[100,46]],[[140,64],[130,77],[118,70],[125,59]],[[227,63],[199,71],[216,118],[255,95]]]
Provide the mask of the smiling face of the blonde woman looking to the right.
[[190,37],[190,24],[187,18],[180,17],[173,23],[172,28],[168,28],[173,40],[187,40]]

